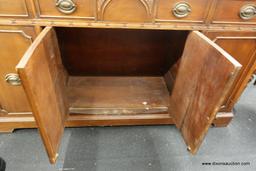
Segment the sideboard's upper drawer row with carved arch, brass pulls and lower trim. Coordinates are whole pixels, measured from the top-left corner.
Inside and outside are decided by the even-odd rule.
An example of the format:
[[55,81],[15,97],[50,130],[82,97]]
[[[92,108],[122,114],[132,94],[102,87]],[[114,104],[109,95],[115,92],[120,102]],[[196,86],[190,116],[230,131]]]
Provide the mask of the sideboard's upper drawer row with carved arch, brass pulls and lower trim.
[[0,25],[256,31],[253,0],[0,0],[0,4],[4,4]]

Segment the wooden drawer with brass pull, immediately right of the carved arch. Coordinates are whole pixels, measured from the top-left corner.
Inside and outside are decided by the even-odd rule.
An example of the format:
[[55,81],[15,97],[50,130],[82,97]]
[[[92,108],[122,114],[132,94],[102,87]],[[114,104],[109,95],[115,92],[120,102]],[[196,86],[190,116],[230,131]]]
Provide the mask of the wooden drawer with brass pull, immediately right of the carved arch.
[[155,20],[203,23],[210,2],[206,0],[158,0]]

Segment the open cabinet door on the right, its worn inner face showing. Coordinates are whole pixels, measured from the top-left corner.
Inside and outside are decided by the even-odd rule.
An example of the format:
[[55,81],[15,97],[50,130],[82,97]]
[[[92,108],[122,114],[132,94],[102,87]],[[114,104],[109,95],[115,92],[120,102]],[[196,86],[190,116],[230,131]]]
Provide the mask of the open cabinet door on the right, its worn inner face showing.
[[198,31],[189,34],[174,88],[170,114],[195,154],[241,65]]

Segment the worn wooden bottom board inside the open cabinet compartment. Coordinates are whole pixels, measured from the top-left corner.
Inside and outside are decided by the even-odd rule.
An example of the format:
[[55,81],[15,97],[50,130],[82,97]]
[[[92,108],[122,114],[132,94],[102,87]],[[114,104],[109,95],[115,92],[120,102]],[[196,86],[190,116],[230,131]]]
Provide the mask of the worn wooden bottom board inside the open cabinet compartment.
[[71,113],[166,113],[169,92],[163,77],[70,77]]

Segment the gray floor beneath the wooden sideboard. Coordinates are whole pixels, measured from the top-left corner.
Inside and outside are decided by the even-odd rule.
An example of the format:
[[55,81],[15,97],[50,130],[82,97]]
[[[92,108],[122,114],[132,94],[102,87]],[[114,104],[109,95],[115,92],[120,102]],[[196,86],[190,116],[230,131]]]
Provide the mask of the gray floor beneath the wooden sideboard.
[[[50,165],[36,129],[0,135],[7,171],[256,170],[256,86],[249,85],[227,128],[211,128],[190,155],[174,126],[66,129],[56,165]],[[202,165],[249,162],[250,165]]]

